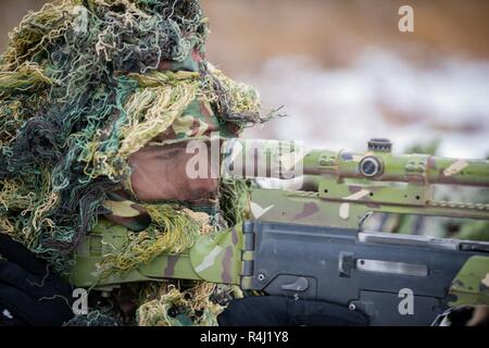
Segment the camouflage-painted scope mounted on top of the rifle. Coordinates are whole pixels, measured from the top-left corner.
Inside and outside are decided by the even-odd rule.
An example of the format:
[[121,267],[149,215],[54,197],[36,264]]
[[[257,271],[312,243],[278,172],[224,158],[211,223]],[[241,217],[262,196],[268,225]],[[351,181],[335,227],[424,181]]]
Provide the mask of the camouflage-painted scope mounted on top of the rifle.
[[225,172],[243,177],[319,175],[337,179],[489,187],[488,160],[393,154],[390,149],[377,145],[356,153],[305,150],[297,141],[233,139],[224,142],[223,152]]

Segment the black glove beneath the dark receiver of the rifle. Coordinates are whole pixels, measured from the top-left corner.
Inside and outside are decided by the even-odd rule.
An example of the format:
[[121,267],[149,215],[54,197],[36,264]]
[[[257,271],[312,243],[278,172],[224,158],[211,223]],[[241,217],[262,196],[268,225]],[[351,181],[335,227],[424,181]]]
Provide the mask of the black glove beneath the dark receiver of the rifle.
[[367,318],[346,307],[286,297],[256,296],[230,302],[221,326],[365,326]]

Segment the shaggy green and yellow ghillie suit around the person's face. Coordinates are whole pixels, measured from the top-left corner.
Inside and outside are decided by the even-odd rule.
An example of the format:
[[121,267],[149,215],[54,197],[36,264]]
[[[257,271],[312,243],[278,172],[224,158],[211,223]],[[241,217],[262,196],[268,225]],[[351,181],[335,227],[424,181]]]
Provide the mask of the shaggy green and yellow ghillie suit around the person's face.
[[254,89],[206,62],[206,36],[197,0],[62,0],[28,14],[0,60],[0,229],[68,274],[84,236],[118,217],[131,243],[108,256],[110,273],[239,221],[218,198],[242,202],[243,183],[222,183],[205,209],[118,196],[131,191],[128,158],[145,146],[266,121]]

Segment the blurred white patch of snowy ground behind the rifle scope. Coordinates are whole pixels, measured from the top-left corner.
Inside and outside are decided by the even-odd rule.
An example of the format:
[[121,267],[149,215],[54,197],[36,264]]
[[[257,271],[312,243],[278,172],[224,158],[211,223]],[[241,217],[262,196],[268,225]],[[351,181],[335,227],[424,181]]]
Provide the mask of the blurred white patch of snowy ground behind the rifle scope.
[[373,50],[333,70],[306,57],[273,59],[240,79],[258,88],[265,111],[285,105],[288,115],[247,130],[247,137],[354,151],[372,137],[388,137],[396,152],[439,139],[440,156],[489,156],[487,61],[419,66]]

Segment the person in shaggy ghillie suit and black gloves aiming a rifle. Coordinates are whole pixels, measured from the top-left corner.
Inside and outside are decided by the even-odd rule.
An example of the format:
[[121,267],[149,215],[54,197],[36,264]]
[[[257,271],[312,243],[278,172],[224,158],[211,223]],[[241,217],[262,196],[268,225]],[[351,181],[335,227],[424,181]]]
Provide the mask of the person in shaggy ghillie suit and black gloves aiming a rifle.
[[[235,137],[267,120],[254,89],[206,62],[206,35],[197,0],[63,0],[14,30],[0,61],[4,324],[71,320],[65,279],[100,223],[135,241],[103,269],[123,272],[242,219],[220,204],[220,179],[187,173],[190,139]],[[236,300],[218,322],[367,324],[333,303],[274,297]]]

